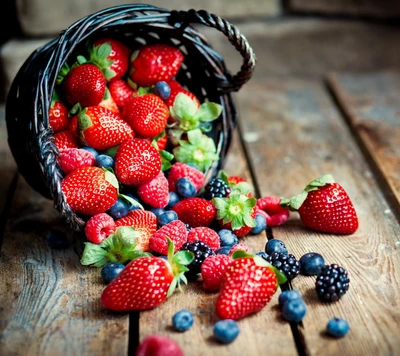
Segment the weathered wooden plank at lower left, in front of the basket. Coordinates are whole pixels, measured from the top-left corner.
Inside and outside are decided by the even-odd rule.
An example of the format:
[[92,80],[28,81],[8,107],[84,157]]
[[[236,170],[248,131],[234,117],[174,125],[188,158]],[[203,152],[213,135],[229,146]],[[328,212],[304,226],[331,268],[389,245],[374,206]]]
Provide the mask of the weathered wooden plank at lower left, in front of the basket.
[[128,315],[101,307],[100,271],[81,266],[81,244],[46,244],[54,229],[74,241],[52,203],[21,178],[0,259],[0,354],[126,355]]

